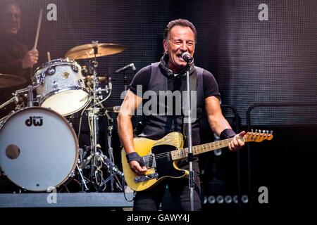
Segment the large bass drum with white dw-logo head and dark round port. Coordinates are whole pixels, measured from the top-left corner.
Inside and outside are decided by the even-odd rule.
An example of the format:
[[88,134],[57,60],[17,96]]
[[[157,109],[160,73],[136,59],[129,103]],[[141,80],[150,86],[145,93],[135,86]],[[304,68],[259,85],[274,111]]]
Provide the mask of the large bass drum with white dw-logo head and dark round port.
[[49,191],[73,173],[78,160],[75,131],[61,115],[41,107],[19,110],[0,129],[0,167],[28,191]]

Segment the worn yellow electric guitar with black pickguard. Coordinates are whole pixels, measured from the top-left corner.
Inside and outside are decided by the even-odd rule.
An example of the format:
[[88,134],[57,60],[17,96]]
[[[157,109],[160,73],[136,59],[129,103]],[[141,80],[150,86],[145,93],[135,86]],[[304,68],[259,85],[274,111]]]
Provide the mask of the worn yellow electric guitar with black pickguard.
[[[256,130],[255,132],[247,132],[244,136],[237,137],[237,139],[244,142],[270,141],[273,139],[272,133],[273,131],[269,133],[268,131],[259,130],[258,132]],[[219,148],[225,148],[232,139],[233,138],[193,146],[192,153],[193,155],[199,155]],[[123,172],[125,174],[125,181],[132,190],[146,190],[167,177],[179,179],[188,176],[189,172],[186,169],[180,169],[177,166],[178,160],[187,158],[188,156],[188,148],[183,148],[184,141],[182,134],[172,132],[159,140],[135,138],[133,141],[135,151],[143,158],[147,172],[143,175],[135,174],[135,172],[130,169],[123,148],[121,151]]]

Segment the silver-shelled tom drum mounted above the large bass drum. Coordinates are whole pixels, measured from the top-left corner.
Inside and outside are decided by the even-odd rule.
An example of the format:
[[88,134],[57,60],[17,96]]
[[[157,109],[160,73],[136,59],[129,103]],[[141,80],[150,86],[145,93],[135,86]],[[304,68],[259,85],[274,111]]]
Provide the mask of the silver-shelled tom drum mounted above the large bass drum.
[[89,101],[82,68],[75,60],[51,60],[37,68],[32,79],[38,86],[39,105],[63,116],[76,113]]

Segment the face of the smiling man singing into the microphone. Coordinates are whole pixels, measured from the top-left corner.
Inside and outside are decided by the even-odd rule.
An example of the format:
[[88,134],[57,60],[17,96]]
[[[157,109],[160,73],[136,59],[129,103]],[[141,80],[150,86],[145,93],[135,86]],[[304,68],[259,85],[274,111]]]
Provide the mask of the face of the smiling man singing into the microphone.
[[189,27],[175,26],[170,30],[169,40],[163,40],[164,50],[168,51],[168,68],[173,72],[179,72],[187,63],[182,59],[182,53],[188,51],[194,56],[195,37]]

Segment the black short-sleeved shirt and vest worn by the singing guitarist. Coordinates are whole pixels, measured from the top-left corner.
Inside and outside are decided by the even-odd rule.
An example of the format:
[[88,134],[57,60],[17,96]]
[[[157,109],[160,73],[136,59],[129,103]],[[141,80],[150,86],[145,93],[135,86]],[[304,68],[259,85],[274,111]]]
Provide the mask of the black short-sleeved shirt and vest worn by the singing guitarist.
[[[192,144],[199,144],[199,120],[204,110],[204,99],[209,96],[220,98],[218,85],[210,72],[195,67],[191,80],[196,77],[196,99],[192,99]],[[192,82],[192,81],[191,81]],[[172,131],[183,133],[183,120],[185,112],[185,103],[182,104],[185,97],[186,76],[167,75],[159,66],[159,63],[153,63],[137,72],[130,84],[130,91],[143,98],[142,112],[144,129],[139,136],[149,139],[161,139]],[[173,94],[173,101],[170,95]],[[177,96],[177,97],[175,97]],[[196,104],[193,104],[196,100]],[[168,103],[168,104],[167,104]],[[196,105],[194,109],[193,106]],[[141,110],[137,110],[137,113]],[[184,113],[185,112],[185,113]],[[186,143],[185,143],[185,146]]]

